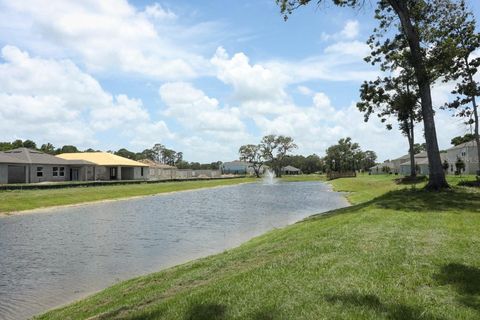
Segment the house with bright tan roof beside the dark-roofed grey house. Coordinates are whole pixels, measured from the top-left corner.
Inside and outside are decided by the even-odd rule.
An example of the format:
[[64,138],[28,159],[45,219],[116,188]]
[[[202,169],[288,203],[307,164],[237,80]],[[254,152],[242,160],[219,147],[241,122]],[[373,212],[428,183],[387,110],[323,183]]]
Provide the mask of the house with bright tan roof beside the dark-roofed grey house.
[[72,180],[147,180],[149,175],[147,164],[108,152],[62,153],[57,157],[67,161],[85,161],[93,164],[92,170],[85,172],[85,175],[72,168]]

